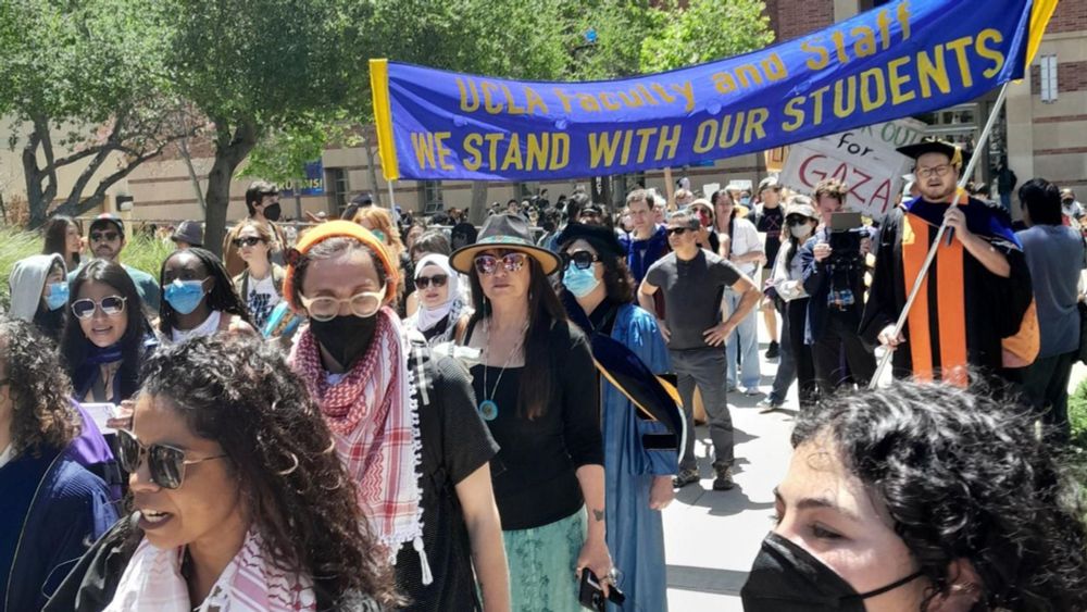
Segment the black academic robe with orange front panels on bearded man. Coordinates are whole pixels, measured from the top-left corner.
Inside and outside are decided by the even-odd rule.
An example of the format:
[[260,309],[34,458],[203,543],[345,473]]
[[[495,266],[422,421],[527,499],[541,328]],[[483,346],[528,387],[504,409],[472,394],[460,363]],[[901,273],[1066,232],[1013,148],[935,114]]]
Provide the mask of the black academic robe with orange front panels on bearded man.
[[[879,332],[898,321],[948,205],[917,198],[905,212],[896,209],[884,221],[861,317],[861,337],[870,344],[876,345]],[[907,342],[895,351],[896,377],[925,380],[947,372],[942,378],[964,384],[964,365],[999,374],[1001,340],[1016,335],[1033,300],[1030,272],[1007,213],[973,198],[958,205],[970,230],[1008,258],[1011,276],[992,274],[958,238],[949,245],[945,235],[910,311]]]

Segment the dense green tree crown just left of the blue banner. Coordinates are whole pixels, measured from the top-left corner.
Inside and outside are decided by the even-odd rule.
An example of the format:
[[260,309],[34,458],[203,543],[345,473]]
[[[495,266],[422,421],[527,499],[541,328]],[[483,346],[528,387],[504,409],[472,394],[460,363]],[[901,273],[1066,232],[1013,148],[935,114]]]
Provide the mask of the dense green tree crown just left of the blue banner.
[[[167,66],[179,95],[228,137],[239,123],[262,129],[335,112],[364,80],[345,61],[346,0],[172,0]],[[364,3],[362,3],[364,4]]]

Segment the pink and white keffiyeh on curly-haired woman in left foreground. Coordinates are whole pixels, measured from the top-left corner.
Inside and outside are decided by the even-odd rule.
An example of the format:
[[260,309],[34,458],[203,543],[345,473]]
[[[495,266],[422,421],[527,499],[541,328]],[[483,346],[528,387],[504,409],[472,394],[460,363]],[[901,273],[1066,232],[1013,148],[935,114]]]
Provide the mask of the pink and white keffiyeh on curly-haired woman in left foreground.
[[309,576],[285,573],[264,559],[261,537],[246,535],[241,550],[199,608],[182,576],[185,548],[155,548],[143,538],[128,561],[104,612],[315,612]]

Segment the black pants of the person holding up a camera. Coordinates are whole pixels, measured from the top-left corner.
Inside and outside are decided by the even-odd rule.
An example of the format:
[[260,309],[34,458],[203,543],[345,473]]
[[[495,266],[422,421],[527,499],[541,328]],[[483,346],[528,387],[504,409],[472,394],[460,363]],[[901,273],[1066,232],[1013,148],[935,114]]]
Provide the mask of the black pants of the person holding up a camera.
[[812,358],[822,398],[850,380],[859,387],[867,386],[876,372],[876,359],[861,341],[857,325],[834,310],[827,313],[826,327],[812,345]]

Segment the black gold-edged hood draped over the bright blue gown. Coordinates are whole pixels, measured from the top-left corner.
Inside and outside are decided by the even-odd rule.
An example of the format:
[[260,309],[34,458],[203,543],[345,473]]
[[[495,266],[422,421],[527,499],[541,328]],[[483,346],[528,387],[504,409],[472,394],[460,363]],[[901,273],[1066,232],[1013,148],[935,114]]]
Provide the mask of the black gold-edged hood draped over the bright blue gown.
[[687,437],[679,392],[675,384],[657,376],[622,342],[603,334],[592,334],[590,339],[592,361],[600,374],[638,409],[638,416],[658,421],[667,434],[647,434],[642,446],[647,449],[675,449],[683,454]]

